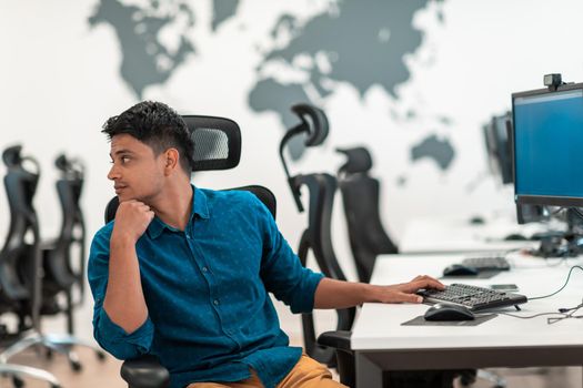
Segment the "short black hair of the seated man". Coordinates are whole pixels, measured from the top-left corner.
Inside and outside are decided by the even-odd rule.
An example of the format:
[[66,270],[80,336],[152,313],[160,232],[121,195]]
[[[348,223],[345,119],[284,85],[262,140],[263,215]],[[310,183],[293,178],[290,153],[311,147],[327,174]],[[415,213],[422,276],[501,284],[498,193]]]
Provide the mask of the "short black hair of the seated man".
[[155,101],[142,101],[117,116],[109,118],[102,133],[109,140],[129,134],[148,144],[158,156],[173,147],[180,153],[180,166],[188,175],[192,171],[194,143],[187,123],[172,108]]

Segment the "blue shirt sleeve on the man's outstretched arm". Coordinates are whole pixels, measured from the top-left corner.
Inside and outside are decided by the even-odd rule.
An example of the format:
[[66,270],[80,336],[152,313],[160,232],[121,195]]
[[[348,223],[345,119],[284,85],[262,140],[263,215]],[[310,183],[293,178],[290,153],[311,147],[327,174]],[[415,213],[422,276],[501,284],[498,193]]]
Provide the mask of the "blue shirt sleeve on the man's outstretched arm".
[[290,306],[292,313],[310,313],[322,274],[302,266],[300,258],[283,238],[267,207],[257,200],[260,229],[263,233],[261,278],[268,292]]

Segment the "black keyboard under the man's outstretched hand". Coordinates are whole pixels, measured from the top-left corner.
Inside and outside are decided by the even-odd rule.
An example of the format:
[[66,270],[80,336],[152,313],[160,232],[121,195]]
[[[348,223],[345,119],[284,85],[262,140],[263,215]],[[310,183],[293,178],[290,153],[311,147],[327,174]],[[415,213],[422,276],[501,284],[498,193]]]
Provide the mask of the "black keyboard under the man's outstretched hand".
[[507,307],[526,303],[524,295],[497,292],[491,288],[451,284],[444,290],[421,289],[418,292],[429,303],[450,303],[462,305],[472,312],[496,307]]

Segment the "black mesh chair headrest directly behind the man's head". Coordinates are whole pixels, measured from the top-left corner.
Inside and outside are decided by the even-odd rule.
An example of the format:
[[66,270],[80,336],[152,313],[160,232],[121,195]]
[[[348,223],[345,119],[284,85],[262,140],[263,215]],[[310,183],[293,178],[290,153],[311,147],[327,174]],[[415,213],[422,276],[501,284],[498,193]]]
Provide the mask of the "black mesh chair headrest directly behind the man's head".
[[183,115],[194,142],[192,171],[228,170],[241,159],[241,130],[229,119]]

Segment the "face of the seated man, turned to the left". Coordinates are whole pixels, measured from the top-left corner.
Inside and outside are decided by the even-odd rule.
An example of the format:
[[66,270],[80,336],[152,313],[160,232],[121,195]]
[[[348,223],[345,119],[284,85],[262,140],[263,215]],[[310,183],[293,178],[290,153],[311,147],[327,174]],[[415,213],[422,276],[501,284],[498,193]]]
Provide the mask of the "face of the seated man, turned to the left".
[[164,184],[164,153],[155,156],[153,150],[129,134],[111,139],[111,162],[108,178],[120,202],[138,200],[147,204],[161,192]]

